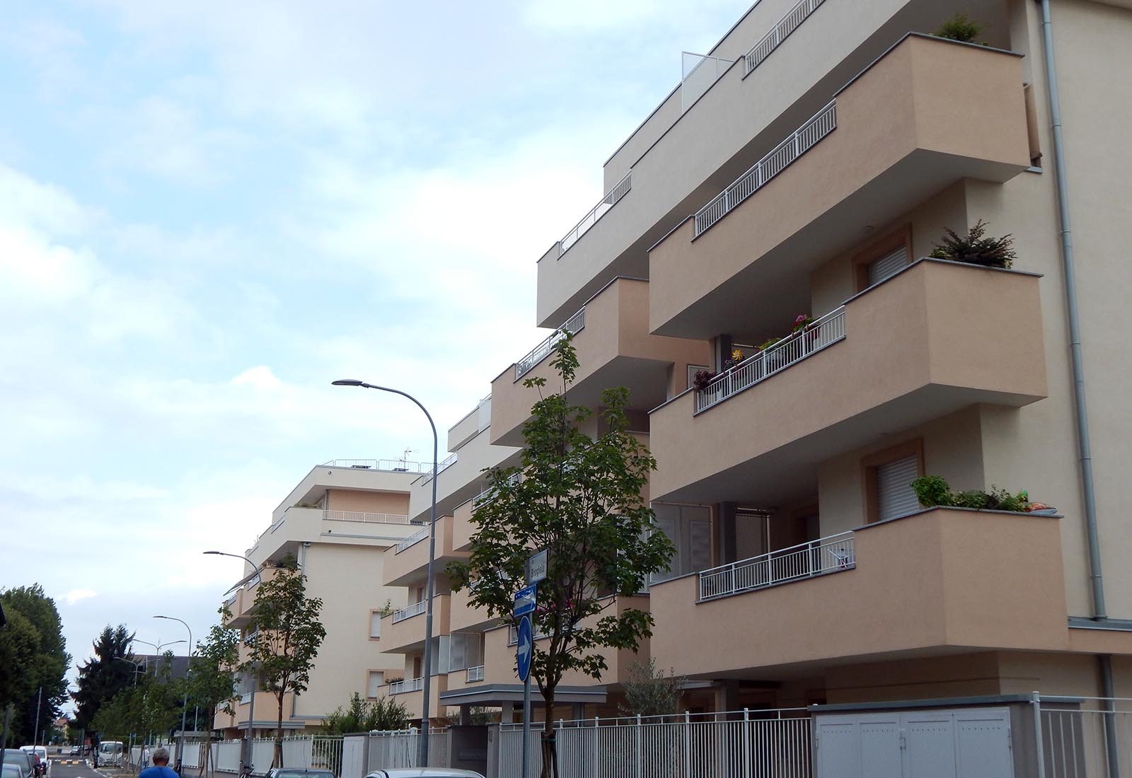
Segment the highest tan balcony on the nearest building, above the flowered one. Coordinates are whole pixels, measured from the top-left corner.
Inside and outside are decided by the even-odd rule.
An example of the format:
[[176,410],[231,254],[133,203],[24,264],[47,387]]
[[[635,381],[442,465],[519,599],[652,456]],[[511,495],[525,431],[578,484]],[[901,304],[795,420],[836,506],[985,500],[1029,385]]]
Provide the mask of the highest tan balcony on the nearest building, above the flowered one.
[[651,249],[650,331],[707,338],[788,321],[809,308],[809,274],[863,225],[961,179],[1024,171],[1021,61],[909,35],[783,138]]

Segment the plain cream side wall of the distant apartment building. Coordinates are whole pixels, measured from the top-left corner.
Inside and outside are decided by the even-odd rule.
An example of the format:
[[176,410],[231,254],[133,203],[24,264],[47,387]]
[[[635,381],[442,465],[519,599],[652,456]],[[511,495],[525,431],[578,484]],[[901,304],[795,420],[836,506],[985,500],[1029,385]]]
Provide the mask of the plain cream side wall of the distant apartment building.
[[344,706],[353,692],[366,694],[369,669],[402,666],[398,655],[381,654],[381,641],[370,640],[370,611],[386,599],[405,604],[405,590],[381,586],[383,551],[372,547],[317,543],[306,550],[307,594],[323,598],[326,639],[318,649],[309,690],[295,698],[297,716],[325,716]]

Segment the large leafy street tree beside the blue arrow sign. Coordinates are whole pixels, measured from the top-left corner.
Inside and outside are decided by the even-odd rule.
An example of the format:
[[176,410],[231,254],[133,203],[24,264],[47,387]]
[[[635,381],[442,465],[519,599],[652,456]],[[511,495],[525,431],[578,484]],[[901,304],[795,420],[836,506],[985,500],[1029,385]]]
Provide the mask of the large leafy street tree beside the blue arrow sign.
[[[521,464],[489,470],[491,496],[472,513],[471,555],[448,565],[454,590],[470,587],[473,606],[513,621],[512,596],[523,585],[528,555],[549,552],[532,623],[547,639],[535,643],[531,659],[547,710],[544,777],[556,763],[555,689],[567,671],[600,680],[608,669],[601,649],[635,651],[652,634],[648,612],[619,608],[616,599],[638,594],[650,574],[668,568],[675,551],[663,533],[653,531],[653,513],[642,496],[657,463],[628,432],[628,390],[606,389],[597,420],[565,397],[578,366],[571,340],[560,334],[550,363],[559,392],[542,396],[543,378],[523,381],[540,399],[523,425]],[[598,422],[593,438],[582,431],[592,421]]]

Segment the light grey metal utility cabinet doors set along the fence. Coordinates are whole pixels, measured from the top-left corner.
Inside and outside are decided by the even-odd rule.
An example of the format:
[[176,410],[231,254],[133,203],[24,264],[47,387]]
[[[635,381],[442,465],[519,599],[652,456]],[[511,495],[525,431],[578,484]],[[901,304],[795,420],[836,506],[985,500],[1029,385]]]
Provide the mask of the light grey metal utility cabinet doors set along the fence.
[[1011,778],[1006,708],[818,715],[816,778]]

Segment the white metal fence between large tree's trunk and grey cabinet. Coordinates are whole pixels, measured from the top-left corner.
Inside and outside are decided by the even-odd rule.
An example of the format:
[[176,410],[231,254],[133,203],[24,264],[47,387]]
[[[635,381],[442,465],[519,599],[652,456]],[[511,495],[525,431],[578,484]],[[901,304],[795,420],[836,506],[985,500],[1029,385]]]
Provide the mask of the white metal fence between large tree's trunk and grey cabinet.
[[[805,709],[557,721],[560,778],[809,778]],[[541,726],[528,744],[542,769]],[[521,725],[499,731],[499,778],[518,778]]]

